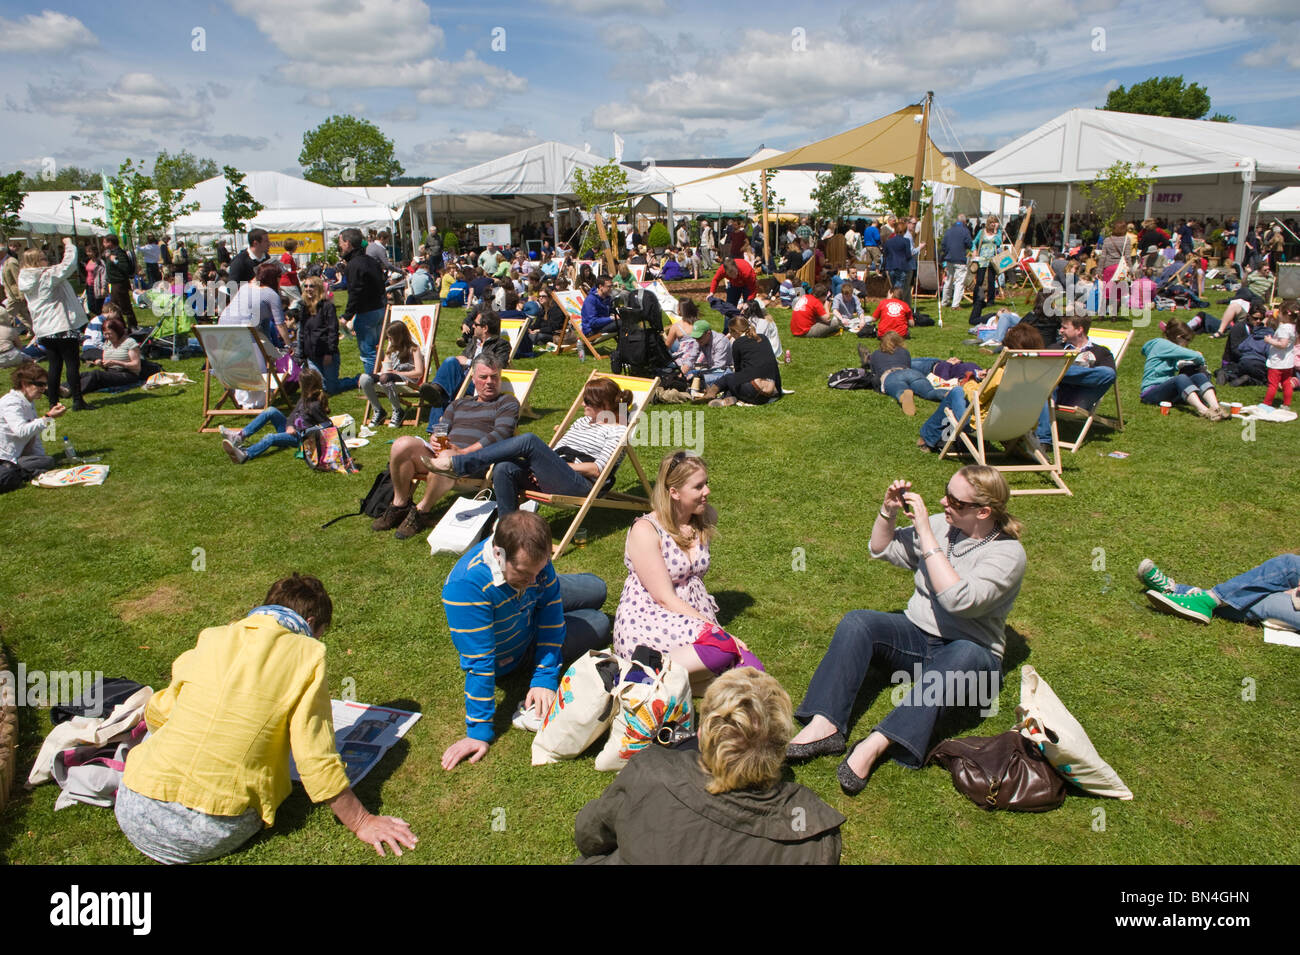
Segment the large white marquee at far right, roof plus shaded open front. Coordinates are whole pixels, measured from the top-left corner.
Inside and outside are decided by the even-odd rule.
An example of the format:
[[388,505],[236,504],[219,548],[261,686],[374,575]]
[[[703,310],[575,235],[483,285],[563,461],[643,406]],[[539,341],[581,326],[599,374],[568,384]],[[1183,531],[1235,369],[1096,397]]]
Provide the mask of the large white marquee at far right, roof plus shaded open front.
[[1244,199],[1300,183],[1300,131],[1166,116],[1071,109],[1004,146],[968,172],[997,186],[1020,186],[1040,212],[1080,210],[1074,183],[1091,182],[1117,160],[1156,166],[1141,217],[1240,214]]

